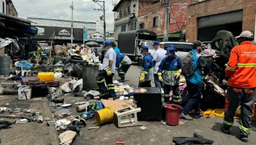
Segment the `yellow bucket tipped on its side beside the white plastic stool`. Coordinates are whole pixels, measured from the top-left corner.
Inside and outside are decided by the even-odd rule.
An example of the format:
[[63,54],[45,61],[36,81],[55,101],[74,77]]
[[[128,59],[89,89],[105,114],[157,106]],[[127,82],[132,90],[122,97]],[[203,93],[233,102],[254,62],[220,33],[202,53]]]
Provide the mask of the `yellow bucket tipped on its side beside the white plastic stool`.
[[95,113],[95,120],[98,125],[102,125],[104,123],[108,123],[114,120],[114,112],[115,109],[113,107],[106,107]]

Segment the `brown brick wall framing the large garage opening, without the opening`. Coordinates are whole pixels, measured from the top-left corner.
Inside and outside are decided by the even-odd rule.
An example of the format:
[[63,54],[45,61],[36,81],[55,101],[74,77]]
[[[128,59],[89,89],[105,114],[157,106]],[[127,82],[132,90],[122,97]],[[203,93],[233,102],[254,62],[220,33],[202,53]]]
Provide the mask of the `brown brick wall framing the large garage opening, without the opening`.
[[243,10],[243,31],[254,31],[256,1],[254,0],[208,0],[191,4],[188,8],[186,39],[195,41],[197,38],[197,18],[216,15],[230,11]]

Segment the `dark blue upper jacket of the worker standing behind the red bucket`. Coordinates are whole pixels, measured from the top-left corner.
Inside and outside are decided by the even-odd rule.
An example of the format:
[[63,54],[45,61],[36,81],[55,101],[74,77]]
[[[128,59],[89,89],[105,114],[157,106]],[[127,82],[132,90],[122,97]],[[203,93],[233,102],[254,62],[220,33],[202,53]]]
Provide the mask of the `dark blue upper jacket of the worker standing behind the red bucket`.
[[165,71],[178,71],[181,69],[182,66],[182,60],[177,57],[173,57],[172,59],[168,59],[168,57],[164,57],[164,59],[161,61],[161,64],[159,66],[158,72]]

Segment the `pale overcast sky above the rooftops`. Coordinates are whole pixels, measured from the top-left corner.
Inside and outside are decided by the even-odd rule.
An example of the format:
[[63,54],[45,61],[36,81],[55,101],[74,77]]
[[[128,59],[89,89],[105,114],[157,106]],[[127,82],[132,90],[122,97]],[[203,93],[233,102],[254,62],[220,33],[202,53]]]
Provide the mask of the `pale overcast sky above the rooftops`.
[[[103,12],[93,10],[93,8],[100,8],[97,3],[94,3],[92,0],[73,1],[74,20],[100,21],[99,17],[103,15]],[[105,0],[107,32],[113,32],[114,29],[113,1],[118,2],[119,0]],[[71,3],[72,0],[13,0],[13,4],[18,11],[18,17],[22,18],[39,17],[71,20]],[[98,27],[102,27],[100,22],[97,22]]]

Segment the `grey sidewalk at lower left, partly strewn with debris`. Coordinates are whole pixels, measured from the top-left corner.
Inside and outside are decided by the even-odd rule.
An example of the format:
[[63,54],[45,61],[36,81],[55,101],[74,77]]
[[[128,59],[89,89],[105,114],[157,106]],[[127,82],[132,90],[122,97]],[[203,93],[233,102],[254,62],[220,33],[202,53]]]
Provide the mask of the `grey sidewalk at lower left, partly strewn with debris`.
[[[46,97],[40,98],[42,100],[17,100],[17,95],[2,95],[0,96],[0,106],[5,103],[10,103],[9,107],[24,107],[33,109],[42,114],[43,118],[52,118],[49,101]],[[3,114],[0,114],[3,115]],[[6,120],[6,118],[0,118]],[[41,145],[41,144],[59,144],[58,135],[55,132],[54,125],[47,127],[46,123],[41,127],[42,123],[24,123],[14,124],[10,128],[0,130],[1,144],[19,144],[19,145]]]

